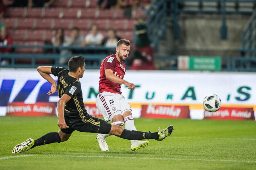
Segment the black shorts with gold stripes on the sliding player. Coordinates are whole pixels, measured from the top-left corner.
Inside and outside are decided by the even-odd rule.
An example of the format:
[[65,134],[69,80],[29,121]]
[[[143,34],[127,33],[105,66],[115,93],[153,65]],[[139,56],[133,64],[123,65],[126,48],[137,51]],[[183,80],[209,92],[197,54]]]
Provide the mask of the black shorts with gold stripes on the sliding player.
[[75,130],[80,132],[108,134],[111,129],[110,123],[91,115],[87,116],[84,121],[82,121],[81,117],[65,117],[65,121],[69,126],[69,128],[61,129],[65,134],[71,134]]

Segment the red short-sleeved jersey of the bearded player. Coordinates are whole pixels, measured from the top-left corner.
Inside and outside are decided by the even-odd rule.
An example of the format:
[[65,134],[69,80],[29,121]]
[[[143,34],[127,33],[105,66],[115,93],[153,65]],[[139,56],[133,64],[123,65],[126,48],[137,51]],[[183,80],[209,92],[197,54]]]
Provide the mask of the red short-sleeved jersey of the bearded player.
[[116,55],[112,54],[111,56],[106,57],[100,67],[100,83],[99,83],[99,93],[102,93],[103,91],[107,91],[110,93],[118,93],[121,94],[121,84],[114,83],[106,78],[105,75],[105,69],[111,69],[113,70],[113,73],[117,76],[123,79],[125,71],[126,71],[126,65],[124,62],[119,63],[119,61],[116,59]]

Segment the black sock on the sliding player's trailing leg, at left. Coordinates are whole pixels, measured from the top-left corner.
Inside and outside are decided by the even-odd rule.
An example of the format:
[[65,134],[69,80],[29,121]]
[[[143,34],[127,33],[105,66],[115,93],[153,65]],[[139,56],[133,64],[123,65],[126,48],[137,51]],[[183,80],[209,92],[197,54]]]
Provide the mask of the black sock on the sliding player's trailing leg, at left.
[[55,142],[60,143],[60,136],[59,136],[58,132],[50,132],[48,134],[45,134],[41,138],[36,139],[35,144],[31,147],[31,149],[36,146],[40,146],[43,144],[55,143]]

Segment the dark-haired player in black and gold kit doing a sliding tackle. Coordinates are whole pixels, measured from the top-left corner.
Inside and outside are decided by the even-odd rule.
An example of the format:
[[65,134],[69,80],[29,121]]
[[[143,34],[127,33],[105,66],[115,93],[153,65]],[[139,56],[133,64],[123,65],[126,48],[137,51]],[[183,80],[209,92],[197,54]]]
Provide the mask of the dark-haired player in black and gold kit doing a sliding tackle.
[[[83,77],[85,71],[85,60],[83,56],[73,56],[68,62],[69,69],[52,66],[39,66],[37,71],[52,84],[48,95],[58,90],[59,101],[57,110],[59,115],[58,132],[50,132],[34,140],[27,139],[23,143],[17,144],[12,153],[21,153],[36,146],[55,142],[64,142],[69,139],[73,131],[91,132],[101,134],[114,134],[120,138],[129,140],[155,139],[162,141],[172,133],[173,126],[151,133],[142,131],[129,131],[123,127],[107,123],[98,117],[91,116],[84,107],[83,94],[79,79]],[[58,76],[58,84],[50,76]]]

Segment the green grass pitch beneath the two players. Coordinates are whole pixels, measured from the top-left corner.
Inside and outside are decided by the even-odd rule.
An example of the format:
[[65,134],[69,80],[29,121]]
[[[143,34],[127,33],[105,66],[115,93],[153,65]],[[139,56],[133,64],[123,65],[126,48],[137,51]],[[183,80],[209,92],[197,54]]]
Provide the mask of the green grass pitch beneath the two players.
[[12,154],[27,138],[58,131],[57,117],[0,117],[0,169],[256,169],[256,122],[135,119],[137,130],[174,126],[163,141],[130,150],[130,141],[110,136],[103,152],[96,134],[75,131],[68,141]]

